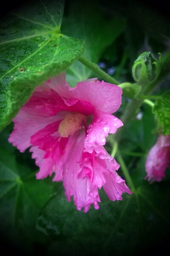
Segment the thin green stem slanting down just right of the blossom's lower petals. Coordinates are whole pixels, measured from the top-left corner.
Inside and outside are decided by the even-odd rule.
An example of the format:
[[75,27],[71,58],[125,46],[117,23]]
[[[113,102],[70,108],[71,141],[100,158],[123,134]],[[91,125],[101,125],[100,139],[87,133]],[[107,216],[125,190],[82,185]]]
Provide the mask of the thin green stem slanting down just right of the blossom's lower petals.
[[128,170],[127,170],[127,167],[125,165],[125,162],[124,162],[124,160],[122,158],[122,155],[121,155],[119,149],[117,149],[117,159],[118,159],[118,162],[119,162],[120,167],[122,169],[122,172],[123,172],[123,174],[125,176],[125,179],[127,181],[127,185],[129,186],[129,188],[131,189],[132,192],[135,192],[136,191],[135,186],[133,184],[133,181],[132,181],[132,179],[130,177],[130,174],[129,174]]

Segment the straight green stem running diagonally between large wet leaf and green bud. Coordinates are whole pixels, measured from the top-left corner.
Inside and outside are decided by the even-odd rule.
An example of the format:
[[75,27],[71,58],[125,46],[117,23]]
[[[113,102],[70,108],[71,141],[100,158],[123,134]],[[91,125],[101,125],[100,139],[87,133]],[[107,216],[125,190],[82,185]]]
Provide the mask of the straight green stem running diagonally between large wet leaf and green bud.
[[116,79],[114,79],[113,77],[109,76],[105,71],[100,69],[98,65],[96,65],[95,63],[93,63],[90,60],[86,59],[84,56],[80,56],[79,62],[82,62],[82,64],[84,64],[85,66],[90,68],[92,71],[94,71],[94,73],[96,73],[99,76],[101,76],[105,80],[105,82],[109,82],[109,83],[112,83],[114,85],[119,85],[119,82],[116,81]]

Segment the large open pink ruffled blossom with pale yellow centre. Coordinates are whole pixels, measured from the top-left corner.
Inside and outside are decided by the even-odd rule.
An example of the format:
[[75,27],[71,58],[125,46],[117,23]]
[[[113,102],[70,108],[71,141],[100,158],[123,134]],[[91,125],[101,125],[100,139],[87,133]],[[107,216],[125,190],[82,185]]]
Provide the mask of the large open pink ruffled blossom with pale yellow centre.
[[68,201],[88,212],[99,209],[98,188],[110,200],[122,200],[131,191],[116,173],[119,164],[105,150],[105,137],[115,133],[122,121],[111,115],[121,105],[122,89],[88,79],[70,88],[65,74],[38,86],[14,118],[9,142],[21,152],[30,147],[40,167],[37,179],[54,174],[63,181]]

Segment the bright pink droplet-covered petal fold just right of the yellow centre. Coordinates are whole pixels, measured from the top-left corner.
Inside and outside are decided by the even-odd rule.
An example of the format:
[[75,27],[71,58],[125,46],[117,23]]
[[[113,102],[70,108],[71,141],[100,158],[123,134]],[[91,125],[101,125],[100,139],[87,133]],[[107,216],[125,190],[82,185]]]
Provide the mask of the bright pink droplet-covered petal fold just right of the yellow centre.
[[85,150],[92,153],[98,150],[98,145],[105,145],[109,133],[115,133],[121,127],[122,121],[113,115],[95,112],[93,123],[89,125],[88,135],[85,139]]

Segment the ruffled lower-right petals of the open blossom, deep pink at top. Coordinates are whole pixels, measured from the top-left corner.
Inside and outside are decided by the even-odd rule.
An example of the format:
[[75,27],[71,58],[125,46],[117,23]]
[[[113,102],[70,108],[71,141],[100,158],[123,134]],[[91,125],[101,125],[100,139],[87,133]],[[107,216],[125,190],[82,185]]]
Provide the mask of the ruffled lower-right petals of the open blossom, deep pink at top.
[[82,162],[80,162],[82,171],[79,172],[79,177],[86,176],[90,179],[89,196],[93,197],[96,188],[102,188],[102,186],[109,199],[113,201],[122,200],[123,192],[132,194],[125,184],[125,180],[119,177],[115,171],[119,168],[115,159],[112,157],[100,159],[98,154],[95,153],[95,157],[93,155],[88,154],[85,157],[85,153],[83,154]]

